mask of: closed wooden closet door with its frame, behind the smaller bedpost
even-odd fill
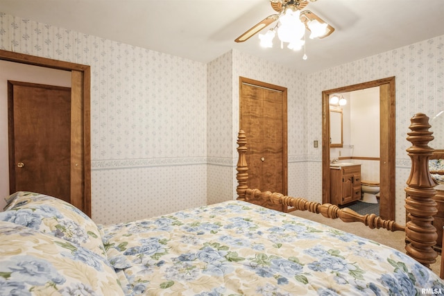
[[[239,85],[248,186],[287,194],[287,89],[247,78],[240,78]]]

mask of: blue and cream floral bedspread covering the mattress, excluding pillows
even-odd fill
[[[437,275],[391,247],[247,202],[101,231],[128,295],[444,293]]]

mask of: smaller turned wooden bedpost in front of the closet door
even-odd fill
[[[246,200],[246,189],[248,181],[248,166],[247,166],[247,139],[244,130],[239,130],[237,137],[237,153],[239,153],[239,159],[237,160],[237,200]]]

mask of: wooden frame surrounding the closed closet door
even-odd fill
[[[241,98],[242,98],[242,85],[254,85],[255,87],[262,87],[266,89],[272,89],[277,92],[282,92],[282,194],[288,194],[288,112],[287,112],[287,87],[280,87],[278,85],[272,85],[270,83],[262,82],[259,80],[253,80],[239,76],[239,129],[242,129],[242,110],[241,110]],[[246,134],[248,143],[248,134]],[[247,164],[248,165],[248,164]]]

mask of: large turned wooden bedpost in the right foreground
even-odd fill
[[[407,140],[413,146],[407,149],[411,158],[411,172],[407,180],[406,205],[407,217],[405,234],[407,254],[429,267],[436,262],[438,254],[433,250],[436,245],[436,228],[432,225],[434,216],[437,213],[436,202],[433,200],[436,185],[429,173],[429,157],[434,149],[428,146],[429,141],[434,137],[429,131],[429,117],[418,113],[411,118],[409,126],[411,132],[407,134]],[[395,177],[395,176],[393,176]]]

